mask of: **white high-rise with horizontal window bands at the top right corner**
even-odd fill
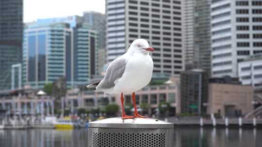
[[[262,52],[262,0],[212,0],[212,76],[238,76],[237,63]]]

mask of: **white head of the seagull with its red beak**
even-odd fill
[[[155,51],[155,49],[153,47],[150,47],[145,39],[134,40],[128,49],[128,52],[144,53],[144,54],[148,54],[149,52],[153,52],[153,51]]]

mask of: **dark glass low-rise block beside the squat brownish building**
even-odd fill
[[[180,74],[181,113],[205,114],[208,101],[208,73],[193,69]]]

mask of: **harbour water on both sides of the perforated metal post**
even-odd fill
[[[87,147],[87,130],[0,130],[0,147]],[[174,147],[262,147],[262,130],[175,128]]]

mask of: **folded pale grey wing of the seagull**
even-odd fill
[[[99,83],[100,89],[112,88],[115,86],[115,80],[122,77],[126,68],[126,59],[117,58],[112,61],[105,73],[105,77]]]

